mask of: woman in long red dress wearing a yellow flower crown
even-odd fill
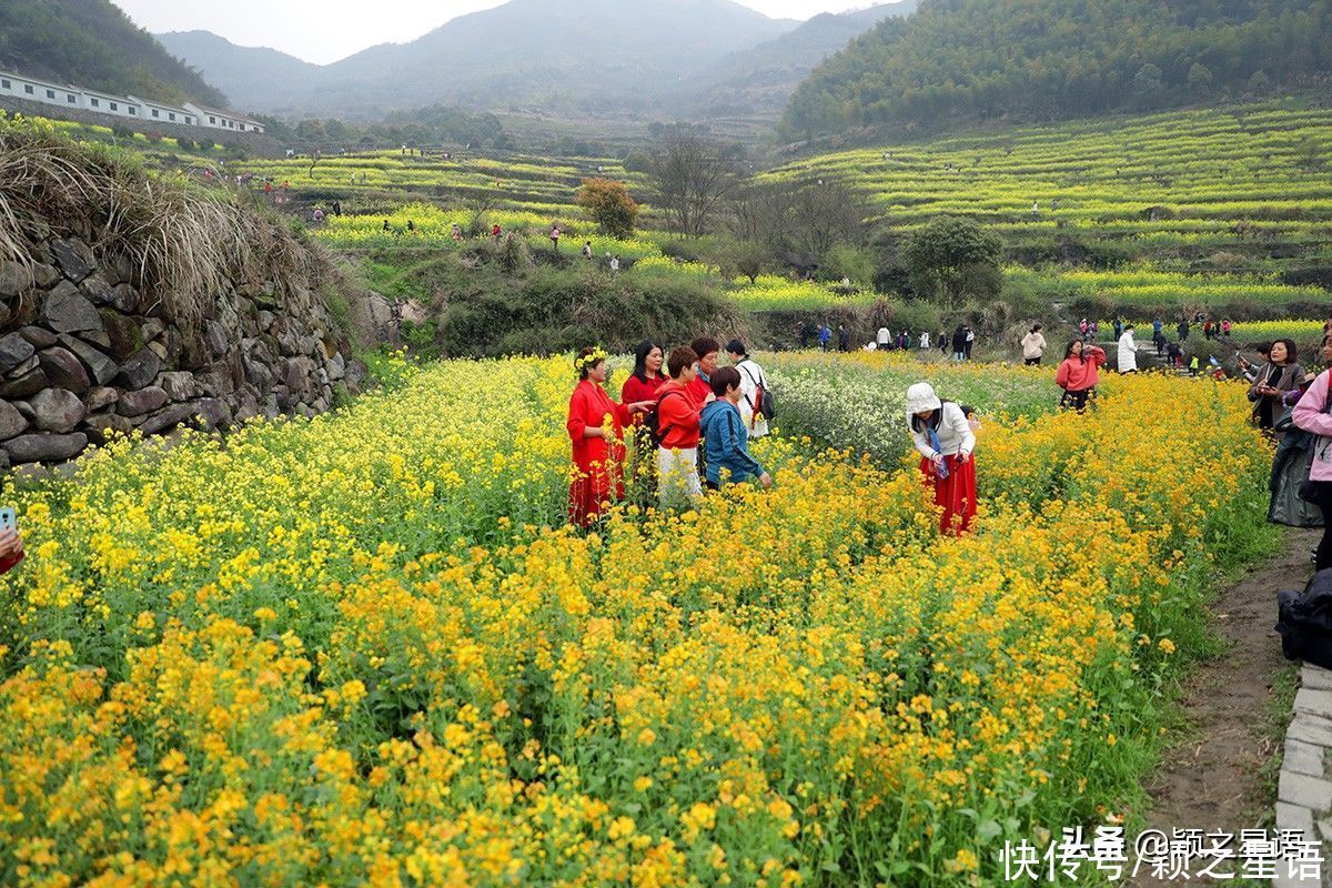
[[[587,527],[603,506],[625,497],[622,465],[625,426],[630,417],[651,409],[651,401],[615,403],[602,387],[609,370],[606,353],[583,349],[574,359],[578,386],[569,398],[569,439],[574,450],[574,478],[569,486],[569,521]]]

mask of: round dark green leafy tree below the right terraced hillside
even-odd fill
[[[984,269],[999,270],[999,238],[970,218],[943,217],[916,230],[902,248],[914,289],[942,297],[950,309],[962,304],[968,281],[984,280]],[[992,277],[988,280],[994,280]]]

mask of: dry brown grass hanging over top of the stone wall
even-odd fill
[[[140,290],[186,333],[230,285],[318,293],[336,274],[322,253],[221,186],[152,176],[132,152],[0,114],[0,261],[31,268],[48,229],[87,238],[100,260],[128,258]]]

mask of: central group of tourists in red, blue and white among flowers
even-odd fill
[[[773,486],[773,477],[749,450],[751,439],[769,433],[767,377],[742,341],[726,345],[727,366],[721,366],[721,351],[711,337],[669,354],[655,342],[643,342],[619,402],[603,387],[610,375],[606,353],[595,347],[578,353],[578,385],[566,425],[574,462],[571,523],[586,527],[607,505],[625,498],[630,446],[635,479],[655,487],[663,507],[697,502],[705,483],[709,490],[750,481]]]

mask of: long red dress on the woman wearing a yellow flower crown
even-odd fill
[[[610,417],[614,439],[585,438],[585,429],[601,429]],[[615,403],[595,382],[583,379],[569,398],[569,439],[574,446],[574,479],[569,486],[569,521],[586,527],[605,505],[623,499],[625,423],[629,407]]]

